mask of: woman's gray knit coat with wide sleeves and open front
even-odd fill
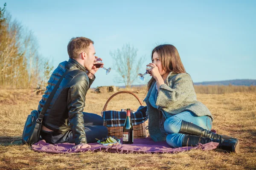
[[[144,101],[147,105],[148,132],[155,142],[165,141],[168,133],[164,130],[165,117],[162,112],[171,115],[183,111],[192,111],[197,116],[210,116],[209,109],[196,99],[195,89],[189,74],[175,74],[170,72],[166,78],[166,84],[160,86],[157,98],[154,100],[151,91],[154,90],[155,83],[151,85]],[[156,105],[157,108],[152,105]]]

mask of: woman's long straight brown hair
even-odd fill
[[[180,54],[175,46],[170,44],[158,45],[155,47],[151,54],[151,59],[153,58],[154,52],[157,52],[160,61],[162,62],[163,70],[167,73],[171,71],[174,73],[186,73],[186,70],[181,62]],[[148,82],[148,90],[150,89],[152,83],[155,82],[154,77],[152,77]]]

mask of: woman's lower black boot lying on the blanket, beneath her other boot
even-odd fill
[[[209,142],[219,143],[218,148],[239,153],[239,142],[234,139],[211,139],[202,136],[185,135],[182,141],[182,146],[197,146],[198,143],[206,144]]]

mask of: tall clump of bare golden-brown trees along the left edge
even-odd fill
[[[0,86],[35,87],[42,77],[49,76],[52,66],[39,57],[32,31],[12,20],[5,9],[6,3],[0,8]]]

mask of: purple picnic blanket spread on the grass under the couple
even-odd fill
[[[121,139],[122,141],[122,139]],[[134,139],[134,144],[118,144],[112,147],[103,146],[98,143],[89,143],[91,148],[72,149],[75,144],[49,144],[45,140],[41,140],[32,144],[32,150],[46,153],[78,153],[86,151],[105,151],[110,153],[175,153],[191,149],[212,150],[218,146],[216,142],[209,142],[207,144],[199,144],[196,147],[170,147],[165,141],[154,142],[150,137],[145,139]]]

